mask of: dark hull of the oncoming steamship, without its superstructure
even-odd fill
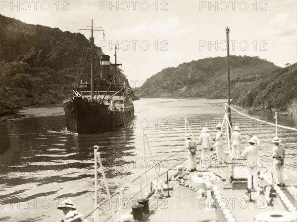
[[[134,117],[134,107],[130,111],[109,111],[108,107],[81,97],[64,102],[67,129],[80,134],[98,133],[122,126]]]

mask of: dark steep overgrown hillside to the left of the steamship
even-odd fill
[[[82,34],[0,14],[0,117],[14,115],[21,107],[61,104],[70,97],[88,44]],[[89,70],[87,66],[85,77]],[[119,75],[128,82],[124,74]]]

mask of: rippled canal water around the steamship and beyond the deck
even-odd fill
[[[214,136],[214,127],[224,115],[224,102],[141,99],[135,101],[135,118],[129,124],[96,135],[68,132],[61,107],[28,109],[22,111],[29,114],[26,118],[1,122],[0,221],[61,221],[63,213],[56,207],[63,198],[71,199],[80,213],[88,215],[94,207],[94,145],[99,146],[110,192],[114,194],[143,173],[144,165],[146,169],[153,166],[151,160],[148,164],[143,161],[144,130],[155,161],[160,161],[184,149],[185,116],[195,138],[204,126]],[[275,121],[272,113],[236,109],[268,122]],[[235,112],[232,121],[240,126],[244,138],[249,133],[260,138],[260,155],[271,162],[270,142],[275,127]],[[291,117],[279,116],[278,123],[297,128],[296,120]],[[296,132],[281,128],[278,131],[287,150],[287,167],[296,169]],[[245,145],[247,140],[243,148]],[[184,155],[179,153],[175,160],[182,160]],[[149,159],[150,155],[147,156]],[[164,161],[160,167],[170,168],[171,162]],[[134,188],[139,189],[139,182]],[[99,171],[99,203],[103,199],[106,190]],[[100,213],[104,218],[104,209]]]

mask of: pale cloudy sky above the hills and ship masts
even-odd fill
[[[29,24],[80,32],[91,25],[95,43],[117,63],[134,87],[167,67],[230,54],[259,56],[285,67],[297,60],[296,0],[101,1],[0,0],[0,13]],[[98,28],[99,29],[99,28]]]

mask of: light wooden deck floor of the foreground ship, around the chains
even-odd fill
[[[232,165],[238,164],[239,161],[222,165],[216,164],[207,170],[216,173],[222,178],[227,179],[229,182]],[[205,171],[204,169],[199,169],[200,166],[198,165],[198,172]],[[186,180],[189,185],[203,188],[203,185],[191,182],[191,177],[196,173],[197,172],[185,175],[184,180]],[[286,169],[286,174],[290,175],[291,180],[287,181],[287,188],[283,189],[283,191],[296,207],[296,172]],[[222,197],[227,200],[228,209],[231,211],[234,219],[238,222],[255,221],[255,216],[262,212],[288,211],[279,196],[273,198],[272,206],[266,207],[263,195],[256,196],[256,192],[252,192],[252,199],[255,199],[255,202],[248,202],[249,198],[245,193],[246,189],[223,189],[224,182],[221,180],[214,184],[219,187]],[[150,198],[150,210],[152,213],[146,221],[228,221],[218,204],[216,204],[216,208],[209,210],[205,199],[197,199],[198,194],[189,187],[179,185],[178,181],[171,181],[169,186],[173,187],[173,191],[169,192],[170,197],[164,199]]]

